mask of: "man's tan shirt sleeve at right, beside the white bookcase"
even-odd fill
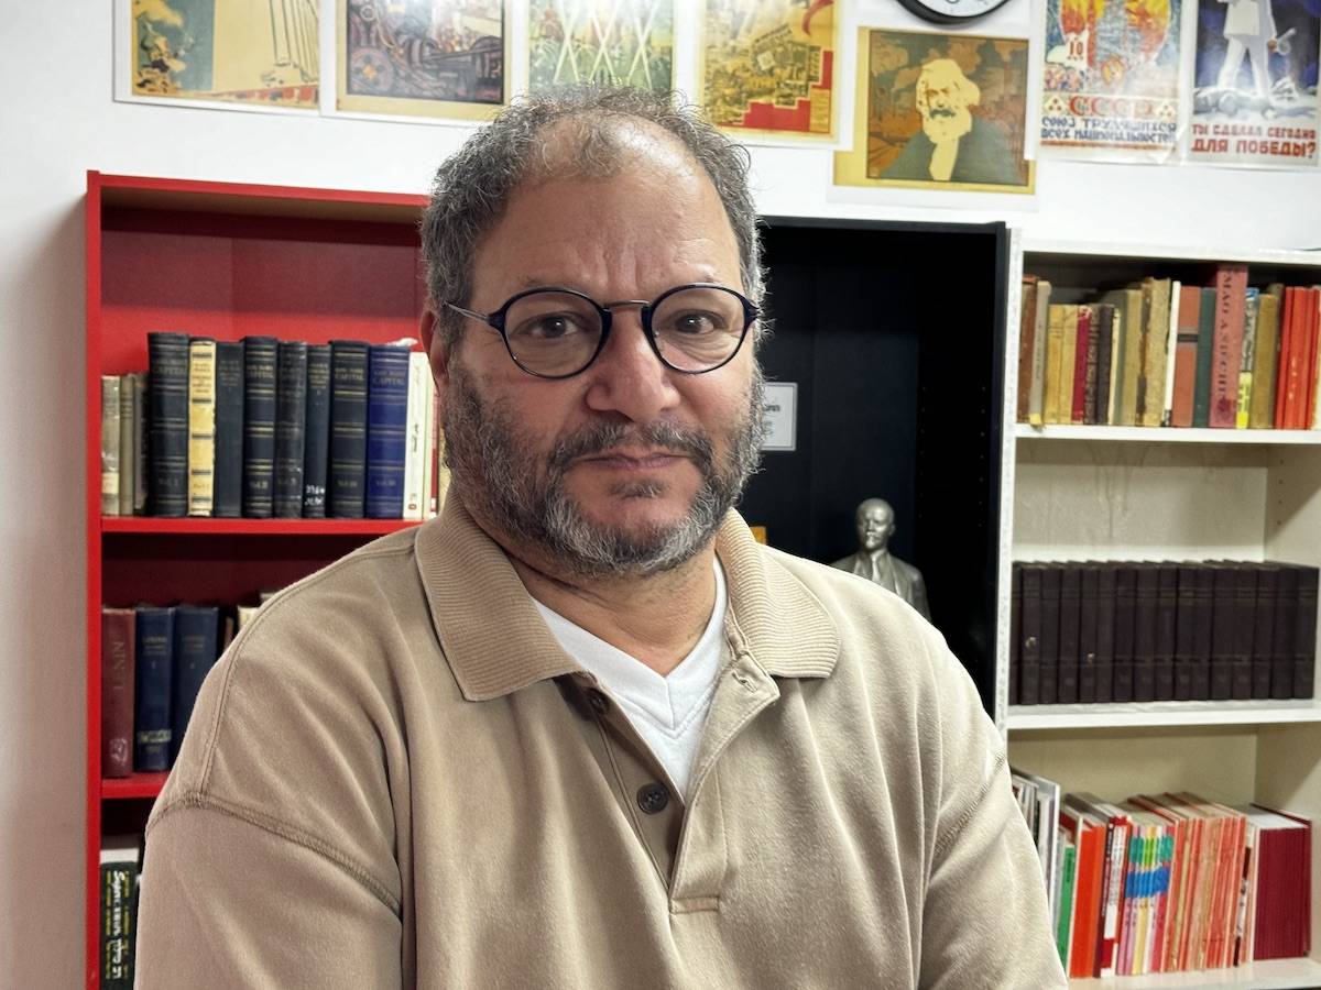
[[[1004,744],[967,673],[959,668],[954,680],[941,719],[942,797],[922,904],[921,986],[1067,987]]]

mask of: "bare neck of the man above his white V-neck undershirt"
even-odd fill
[[[715,607],[715,548],[663,574],[583,581],[513,553],[528,594],[662,677],[692,651]]]

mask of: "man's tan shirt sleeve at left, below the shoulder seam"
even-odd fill
[[[400,921],[351,869],[226,810],[153,826],[139,899],[139,990],[402,986]]]

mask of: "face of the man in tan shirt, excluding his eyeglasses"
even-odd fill
[[[704,173],[668,143],[613,178],[515,193],[480,243],[472,309],[543,285],[601,304],[686,282],[742,289],[738,249]],[[519,558],[576,577],[664,570],[705,546],[761,446],[752,342],[721,368],[660,364],[635,306],[621,308],[583,374],[534,378],[470,322],[439,376],[454,491]]]

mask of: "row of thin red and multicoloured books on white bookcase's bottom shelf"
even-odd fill
[[[1312,824],[1192,793],[1102,801],[1013,771],[1070,977],[1306,956]]]

